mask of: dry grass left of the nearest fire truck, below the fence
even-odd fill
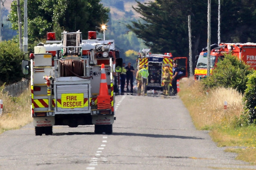
[[[0,134],[9,129],[18,129],[32,121],[30,95],[30,90],[26,90],[19,97],[11,97],[0,92],[0,99],[3,100]]]

